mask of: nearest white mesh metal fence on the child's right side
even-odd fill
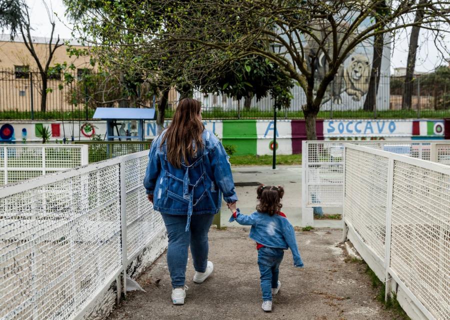
[[[411,318],[448,320],[450,166],[358,145],[344,150],[344,235]]]

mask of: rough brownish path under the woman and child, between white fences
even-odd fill
[[[236,227],[209,232],[209,259],[214,272],[202,284],[193,283],[189,259],[186,303],[173,305],[165,254],[144,272],[138,282],[146,292],[128,292],[109,320],[137,319],[292,319],[392,320],[391,311],[374,299],[376,292],[365,265],[346,262],[337,244],[341,230],[297,232],[305,268],[294,268],[290,251],[280,266],[281,289],[273,310],[261,309],[255,244],[248,230]]]

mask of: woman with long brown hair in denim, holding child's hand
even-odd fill
[[[203,282],[213,269],[208,257],[208,230],[220,209],[237,200],[228,156],[201,122],[200,102],[179,101],[169,127],[151,143],[144,186],[148,200],[161,212],[168,233],[167,265],[172,302],[183,304],[184,274],[190,244],[195,275]]]

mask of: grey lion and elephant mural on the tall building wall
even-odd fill
[[[366,18],[361,27],[371,25],[372,21]],[[324,78],[329,69],[326,56],[333,54],[333,35],[331,27],[326,22],[317,22],[314,37],[305,34],[303,46],[307,57],[306,64],[314,71],[314,93],[318,89],[319,83]],[[354,39],[350,34],[345,40],[342,37],[346,35],[349,28],[348,22],[340,22],[337,25],[337,42],[343,42],[346,47]],[[320,41],[320,46],[317,41]],[[380,74],[381,76],[389,75],[389,46],[384,47],[385,53],[382,56]],[[314,56],[316,52],[320,52],[318,58],[312,63],[310,56]],[[325,54],[326,53],[326,54]],[[386,54],[387,53],[387,54]],[[357,110],[362,109],[365,96],[369,90],[369,80],[371,72],[371,63],[373,59],[373,39],[369,38],[352,48],[345,56],[344,62],[339,66],[337,74],[326,88],[325,95],[322,100],[321,110]],[[297,91],[297,90],[295,90]],[[389,84],[388,81],[380,81],[377,90],[376,108],[388,109]],[[294,95],[296,99],[305,99],[304,92],[298,90]]]

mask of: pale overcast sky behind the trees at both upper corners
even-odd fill
[[[59,34],[60,38],[69,39],[71,37],[71,24],[64,17],[65,7],[62,0],[26,0],[31,17],[31,25],[34,28],[33,35],[35,36],[49,36],[51,31],[51,26],[48,21],[45,6],[42,1],[47,3],[50,11],[54,12],[57,17],[55,34]],[[391,71],[395,67],[406,66],[406,59],[408,54],[408,40],[409,40],[409,30],[400,32],[391,44],[393,49],[391,50]],[[445,38],[447,47],[450,48],[450,35]],[[450,58],[447,56],[446,58]],[[442,55],[436,48],[432,36],[427,34],[425,30],[422,30],[419,36],[419,51],[417,54],[417,60],[415,64],[415,70],[426,72],[433,70],[436,66],[446,64],[442,61]]]

